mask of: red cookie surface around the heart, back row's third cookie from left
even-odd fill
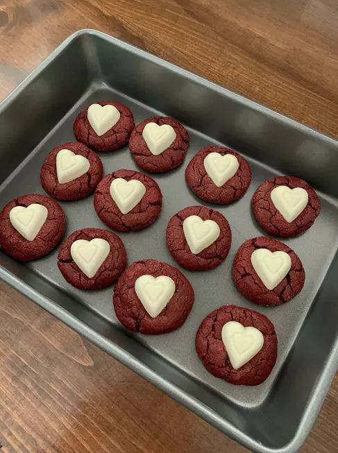
[[[239,163],[235,175],[217,187],[205,170],[204,160],[210,153],[232,154]],[[225,146],[205,146],[192,158],[185,170],[185,180],[196,196],[208,203],[228,205],[244,196],[251,183],[251,169],[244,157]]]

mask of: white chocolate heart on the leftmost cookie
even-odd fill
[[[27,241],[34,241],[48,217],[47,207],[32,203],[10,210],[10,223]]]

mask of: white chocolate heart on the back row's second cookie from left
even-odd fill
[[[158,126],[156,123],[147,123],[144,126],[142,136],[153,155],[159,155],[176,139],[176,132],[169,124]]]

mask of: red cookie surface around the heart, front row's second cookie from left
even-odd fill
[[[108,257],[101,264],[94,277],[89,278],[71,257],[70,248],[74,241],[85,239],[105,239],[110,245]],[[83,228],[74,231],[60,246],[58,254],[58,268],[65,280],[78,289],[103,289],[109,287],[117,280],[126,267],[126,250],[121,239],[112,231],[100,228]]]

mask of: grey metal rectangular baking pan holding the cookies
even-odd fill
[[[213,271],[185,271],[196,294],[192,313],[183,327],[162,336],[124,330],[112,307],[112,288],[93,293],[70,287],[56,266],[57,250],[29,264],[1,253],[1,278],[254,452],[296,452],[337,369],[337,142],[140,49],[84,30],[71,35],[1,104],[1,206],[22,194],[43,193],[39,171],[44,157],[53,146],[74,139],[72,124],[83,106],[103,99],[126,103],[136,123],[154,114],[174,117],[192,138],[185,164],[155,176],[164,195],[160,219],[142,232],[120,234],[128,262],[155,257],[175,265],[165,246],[165,228],[175,212],[200,203],[185,185],[185,166],[208,144],[235,148],[253,170],[244,198],[216,207],[233,231],[230,255]],[[127,147],[100,157],[105,174],[136,168]],[[251,214],[253,191],[280,173],[310,182],[322,210],[309,231],[285,241],[305,266],[303,291],[280,307],[260,307],[235,290],[231,266],[241,243],[262,235]],[[92,196],[61,204],[66,234],[103,228]],[[278,361],[260,386],[231,386],[210,375],[196,356],[199,323],[227,303],[256,309],[276,326]]]

